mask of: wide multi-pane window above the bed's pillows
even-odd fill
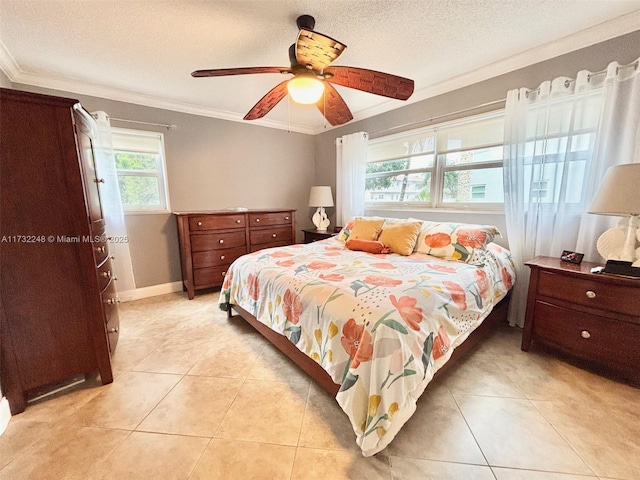
[[[367,206],[501,208],[504,113],[369,142]]]

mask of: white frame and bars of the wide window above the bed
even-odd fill
[[[504,201],[503,202],[445,202],[443,200],[443,192],[444,192],[444,175],[446,172],[450,171],[470,171],[470,170],[488,170],[492,168],[503,168],[504,166],[504,157],[500,160],[496,161],[484,161],[477,163],[469,163],[469,164],[458,164],[458,165],[446,165],[446,155],[448,153],[458,153],[465,151],[475,151],[484,148],[495,148],[500,147],[504,149],[504,138],[502,142],[488,142],[474,147],[465,147],[465,148],[457,148],[457,149],[448,149],[444,151],[438,150],[438,131],[443,130],[445,128],[455,127],[458,125],[476,123],[483,120],[492,120],[498,117],[501,117],[504,121],[505,110],[504,108],[499,110],[493,110],[491,112],[485,112],[478,115],[471,115],[463,118],[458,118],[455,120],[451,120],[448,122],[442,122],[436,125],[430,125],[429,127],[422,127],[413,130],[407,130],[401,133],[396,133],[392,135],[385,135],[381,137],[377,137],[375,139],[371,139],[369,141],[370,145],[376,145],[377,143],[389,142],[394,139],[401,139],[407,136],[414,136],[417,134],[424,134],[427,136],[429,133],[433,133],[434,137],[434,146],[431,152],[420,152],[416,153],[412,156],[421,156],[421,155],[433,155],[433,167],[428,168],[414,168],[407,170],[400,170],[396,172],[377,172],[374,174],[369,174],[366,178],[375,178],[375,177],[387,177],[392,175],[402,175],[402,174],[411,174],[411,173],[423,173],[428,172],[431,174],[430,179],[430,201],[429,202],[416,202],[416,201],[392,201],[392,202],[371,202],[365,199],[365,209],[367,210],[385,210],[385,209],[393,209],[393,210],[463,210],[463,211],[487,211],[487,212],[504,212]],[[375,162],[368,163],[383,163],[393,160],[400,160],[403,158],[407,158],[406,156],[396,157],[396,158],[388,158],[384,160],[378,160]],[[504,183],[502,183],[504,188]]]

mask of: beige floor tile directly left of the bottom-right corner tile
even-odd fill
[[[455,399],[489,465],[593,474],[529,400]]]

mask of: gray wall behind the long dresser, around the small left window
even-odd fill
[[[28,85],[14,87],[77,98],[87,110],[103,110],[114,118],[176,125],[167,130],[112,122],[115,127],[164,133],[172,211],[293,208],[300,240],[300,229],[310,224],[307,202],[314,176],[310,135]],[[181,280],[175,217],[126,215],[126,224],[136,287]]]

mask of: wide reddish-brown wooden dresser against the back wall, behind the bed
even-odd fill
[[[220,287],[227,268],[239,256],[295,243],[295,210],[173,213],[189,299],[196,290]]]

